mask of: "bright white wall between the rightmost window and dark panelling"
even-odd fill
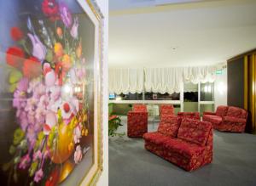
[[[218,105],[227,105],[227,78],[227,68],[224,68],[222,75],[216,75],[214,82],[215,110]]]

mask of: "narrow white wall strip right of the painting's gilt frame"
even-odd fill
[[[97,186],[108,186],[108,0],[96,0],[104,15],[103,38],[103,172]]]

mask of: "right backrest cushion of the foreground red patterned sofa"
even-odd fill
[[[212,124],[184,118],[177,132],[177,138],[205,146]]]

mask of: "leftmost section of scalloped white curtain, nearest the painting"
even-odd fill
[[[110,93],[143,93],[143,69],[110,69]]]

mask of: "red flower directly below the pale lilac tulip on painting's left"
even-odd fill
[[[23,75],[28,78],[40,76],[42,73],[41,63],[35,57],[30,57],[24,61]]]

